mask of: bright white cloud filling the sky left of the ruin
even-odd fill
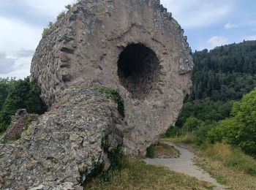
[[[13,1],[1,1],[0,7],[8,6],[9,9],[12,9]],[[22,18],[20,15],[15,15],[15,9],[13,9],[11,17],[10,14],[0,14],[0,77],[23,78],[30,75],[31,58],[42,38],[42,28],[44,27],[29,24],[31,23],[30,20],[37,18],[37,16],[44,18],[44,15],[54,20],[59,12],[65,9],[64,5],[72,4],[75,1],[19,0],[18,3],[23,6],[20,7],[21,9],[31,10],[31,14],[35,15]],[[47,25],[48,23],[45,23],[45,26]]]

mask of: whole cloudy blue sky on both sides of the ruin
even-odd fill
[[[0,0],[0,77],[29,76],[42,29],[76,0]],[[125,1],[125,0],[124,0]],[[192,50],[256,39],[256,1],[160,0]]]

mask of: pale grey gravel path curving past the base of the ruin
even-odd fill
[[[219,183],[217,183],[217,180],[214,178],[211,178],[211,175],[208,174],[208,172],[200,169],[200,167],[197,167],[194,163],[195,154],[189,151],[187,148],[185,148],[182,145],[174,145],[171,142],[164,142],[167,145],[173,145],[174,148],[176,148],[178,151],[180,151],[181,156],[178,159],[144,159],[146,163],[153,164],[153,165],[159,165],[170,168],[170,170],[176,171],[176,172],[182,172],[186,175],[190,175],[192,177],[197,178],[198,180],[204,180],[209,183],[214,184],[216,186],[214,189],[221,190],[221,189],[227,189],[227,186],[223,186]]]

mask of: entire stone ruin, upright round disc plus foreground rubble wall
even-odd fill
[[[81,0],[49,31],[31,63],[49,110],[0,144],[0,189],[82,189],[118,145],[145,155],[192,85],[187,37],[159,0]],[[124,118],[95,86],[119,92]]]

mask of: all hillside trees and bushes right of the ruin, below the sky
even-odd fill
[[[193,54],[192,94],[166,137],[227,142],[256,155],[256,41]],[[244,98],[243,98],[244,97]]]

